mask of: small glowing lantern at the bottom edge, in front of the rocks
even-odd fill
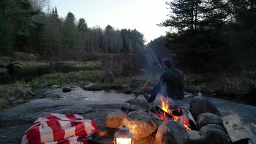
[[[125,125],[119,127],[117,133],[115,133],[114,143],[115,144],[132,144],[133,135],[129,131],[129,127]]]

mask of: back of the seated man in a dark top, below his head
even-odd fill
[[[165,70],[160,77],[160,83],[166,83],[169,98],[174,100],[184,99],[184,74],[181,70],[170,68]]]

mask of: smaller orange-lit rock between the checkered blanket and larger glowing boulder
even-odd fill
[[[107,128],[119,128],[124,117],[124,112],[121,111],[115,111],[112,113],[109,113],[105,120],[104,124]]]

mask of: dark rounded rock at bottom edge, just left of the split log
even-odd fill
[[[217,124],[208,124],[200,129],[200,133],[205,136],[206,144],[230,144],[229,135],[226,129]]]

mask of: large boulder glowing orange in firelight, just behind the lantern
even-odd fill
[[[142,110],[128,113],[123,123],[130,128],[130,132],[139,140],[153,134],[158,128],[155,119]]]

